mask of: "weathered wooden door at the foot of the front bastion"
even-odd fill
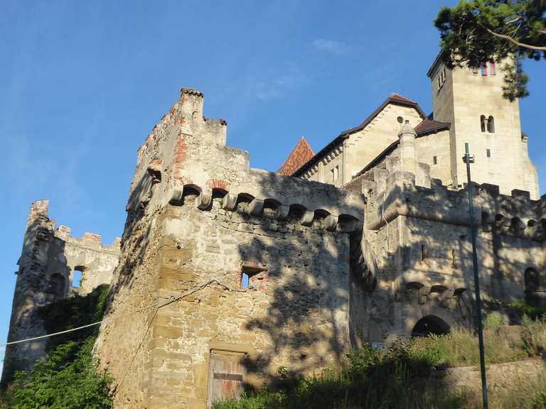
[[[245,382],[245,354],[229,351],[210,351],[207,407],[227,398],[239,398]]]

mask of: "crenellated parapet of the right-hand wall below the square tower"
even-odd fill
[[[431,187],[415,184],[412,173],[385,169],[375,170],[363,180],[368,202],[365,226],[379,230],[398,216],[414,217],[469,227],[469,187],[451,190],[432,179]],[[535,241],[545,240],[545,197],[531,200],[529,192],[513,190],[501,195],[496,185],[473,184],[475,222],[483,231],[496,228],[500,234]]]

